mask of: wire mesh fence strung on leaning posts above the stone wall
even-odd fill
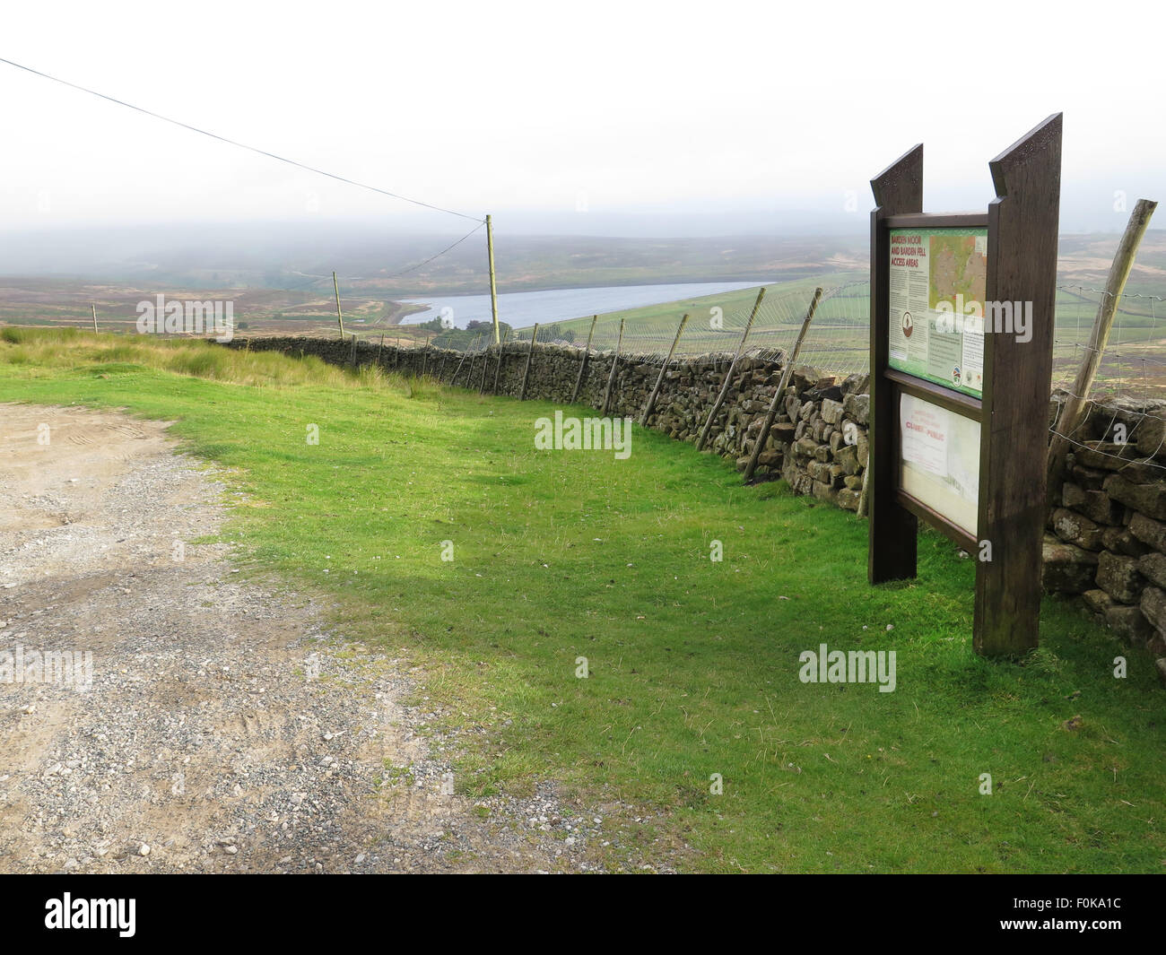
[[[538,342],[582,349],[590,333],[592,352],[617,347],[628,359],[662,364],[701,354],[733,354],[742,345],[751,357],[773,358],[788,353],[810,307],[813,282],[768,287],[760,304],[756,289],[737,293],[731,307],[677,302],[642,314],[598,316],[593,331],[586,319],[540,325]],[[870,281],[822,285],[822,296],[798,363],[844,378],[869,371]],[[1166,292],[1166,289],[1164,289]],[[1083,285],[1058,285],[1053,344],[1053,388],[1063,409],[1077,372],[1090,349],[1098,308],[1109,293]],[[680,338],[676,331],[688,315]],[[1065,437],[1082,461],[1108,471],[1140,469],[1166,476],[1166,294],[1128,292],[1115,313],[1109,340],[1100,357],[1089,393],[1077,395],[1082,412],[1072,430],[1060,420],[1049,424],[1052,435]],[[747,336],[745,330],[749,329]],[[533,326],[507,326],[504,349],[529,347]],[[443,338],[445,340],[443,340]],[[492,333],[479,331],[437,335],[435,346],[454,346],[477,353],[491,347]],[[1145,469],[1153,469],[1146,471]]]

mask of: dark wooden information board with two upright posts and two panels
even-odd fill
[[[1037,646],[1061,114],[989,163],[986,212],[922,211],[923,147],[871,181],[872,584],[915,576],[918,521],[976,560],[974,644]]]

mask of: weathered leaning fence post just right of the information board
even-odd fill
[[[1150,219],[1157,208],[1158,203],[1156,202],[1138,199],[1130,215],[1130,220],[1125,224],[1125,233],[1122,236],[1122,241],[1118,243],[1117,252],[1114,254],[1114,264],[1109,268],[1109,278],[1105,281],[1105,293],[1097,304],[1097,317],[1094,319],[1089,345],[1073,382],[1073,391],[1061,408],[1060,419],[1053,429],[1053,441],[1048,448],[1047,498],[1051,506],[1059,503],[1054,498],[1061,491],[1065,456],[1069,451],[1069,440],[1081,423],[1086,406],[1089,403],[1094,375],[1097,374],[1097,366],[1101,365],[1101,357],[1109,342],[1109,331],[1114,326],[1114,317],[1117,315],[1122,293],[1125,292],[1125,282],[1130,278],[1130,269],[1133,268],[1133,260],[1138,254],[1142,237],[1146,234]]]

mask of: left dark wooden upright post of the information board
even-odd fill
[[[915,576],[916,534],[914,514],[895,498],[899,462],[895,459],[899,407],[893,384],[885,377],[890,360],[891,306],[888,281],[891,243],[883,219],[923,211],[923,146],[915,146],[871,180],[871,384],[868,438],[870,457],[866,578],[872,584]],[[881,449],[886,447],[886,452]],[[878,451],[878,454],[876,454]]]

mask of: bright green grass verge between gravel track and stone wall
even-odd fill
[[[864,522],[690,445],[635,429],[626,461],[540,452],[548,403],[211,345],[6,331],[0,400],[175,420],[237,469],[260,505],[231,518],[245,571],[330,598],[346,632],[403,648],[450,722],[485,728],[463,737],[462,792],[555,779],[631,801],[662,813],[641,848],[687,844],[689,870],[1166,861],[1152,661],[1052,599],[1026,665],[977,658],[974,567],[941,538],[916,582],[871,588]],[[894,649],[897,690],[801,683],[820,642]]]

